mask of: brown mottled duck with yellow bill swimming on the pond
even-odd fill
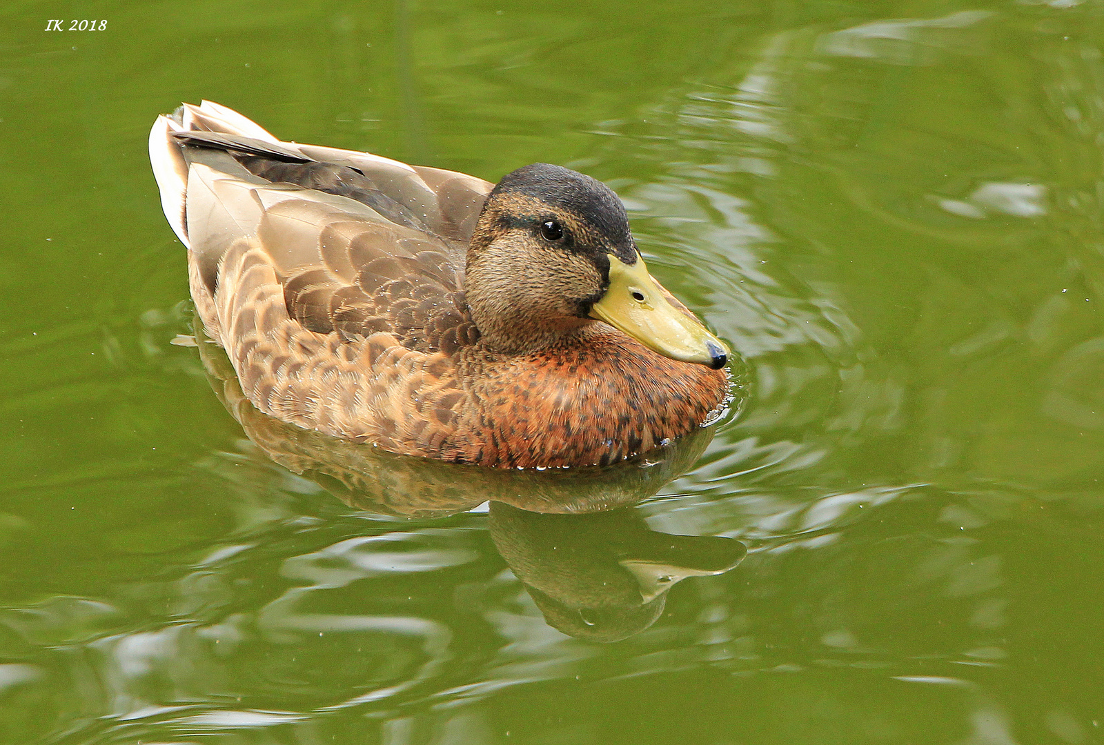
[[[548,469],[647,453],[725,407],[726,345],[588,175],[534,163],[492,184],[282,141],[208,100],[158,116],[149,153],[204,333],[268,416]]]

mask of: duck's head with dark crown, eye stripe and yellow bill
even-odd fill
[[[617,195],[560,166],[519,168],[490,192],[465,291],[499,351],[546,349],[604,321],[673,360],[714,370],[728,361],[724,343],[648,274]]]

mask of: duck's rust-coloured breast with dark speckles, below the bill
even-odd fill
[[[471,434],[484,448],[473,462],[606,465],[697,430],[724,401],[723,371],[669,360],[601,328],[577,344],[479,365]]]

